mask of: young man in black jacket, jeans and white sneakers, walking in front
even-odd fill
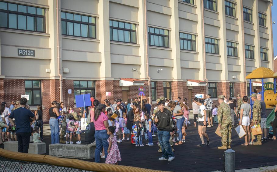
[[[173,135],[174,124],[171,117],[171,112],[164,108],[164,104],[158,103],[159,111],[155,113],[155,125],[158,128],[157,134],[162,148],[162,157],[159,160],[171,161],[174,159],[174,153],[171,150],[169,138]]]

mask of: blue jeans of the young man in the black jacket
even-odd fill
[[[171,150],[171,146],[169,143],[169,138],[170,138],[170,132],[169,131],[157,131],[158,138],[159,138],[159,143],[162,148],[162,157],[164,158],[169,158],[169,157],[174,157],[174,153]]]

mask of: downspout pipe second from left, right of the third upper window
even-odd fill
[[[148,102],[151,104],[151,78],[149,76],[149,63],[148,63],[148,37],[147,37],[147,8],[146,8],[146,0],[144,0],[144,27],[145,27],[145,52],[146,52],[146,75],[148,78]]]

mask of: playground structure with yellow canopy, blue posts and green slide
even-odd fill
[[[272,82],[264,82],[264,79],[267,78],[273,78]],[[276,98],[276,78],[277,78],[277,72],[274,73],[269,68],[260,67],[252,71],[250,74],[246,76],[246,79],[249,79],[249,85],[250,85],[250,95],[254,92],[252,92],[252,79],[261,79],[261,92],[259,94],[262,95],[262,100],[265,101],[266,108],[274,108],[277,104]],[[248,95],[248,96],[250,96]],[[251,106],[254,104],[252,100],[250,99]],[[271,113],[267,117],[266,126],[270,127],[270,121],[273,121],[275,117],[274,109],[271,111]]]

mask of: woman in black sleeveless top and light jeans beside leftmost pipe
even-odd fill
[[[51,144],[59,143],[59,122],[57,117],[60,116],[59,110],[61,106],[57,101],[52,101],[52,107],[49,108],[49,125],[51,130]],[[17,122],[17,121],[16,121]]]

